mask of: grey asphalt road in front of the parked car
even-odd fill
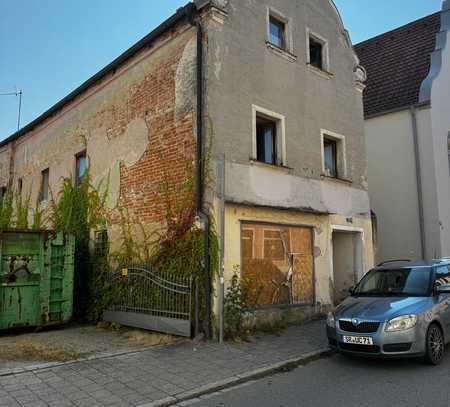
[[[448,407],[450,349],[431,367],[418,360],[341,355],[191,401],[192,407]]]

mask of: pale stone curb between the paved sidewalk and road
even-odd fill
[[[169,407],[177,403],[192,400],[206,394],[215,393],[220,390],[227,389],[229,387],[238,386],[240,384],[261,379],[273,375],[275,373],[288,371],[296,367],[306,365],[320,358],[326,357],[332,354],[333,351],[330,348],[322,348],[313,352],[304,353],[296,358],[283,360],[281,362],[273,363],[271,365],[251,370],[236,376],[231,376],[227,379],[213,382],[204,386],[197,387],[196,389],[178,393],[174,396],[167,397],[161,400],[156,400],[151,403],[141,404],[138,407]]]

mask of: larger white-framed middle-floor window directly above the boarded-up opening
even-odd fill
[[[253,157],[270,165],[286,165],[285,117],[253,105]]]

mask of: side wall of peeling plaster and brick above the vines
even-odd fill
[[[176,202],[195,162],[195,75],[189,71],[195,38],[195,28],[180,24],[16,142],[14,185],[23,178],[32,205],[41,171],[50,168],[50,187],[58,191],[61,179],[73,176],[75,155],[87,147],[94,179],[120,162],[113,225],[120,208],[143,224],[163,223],[163,182]]]

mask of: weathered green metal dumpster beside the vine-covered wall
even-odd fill
[[[74,251],[63,234],[0,231],[0,329],[70,320]]]

